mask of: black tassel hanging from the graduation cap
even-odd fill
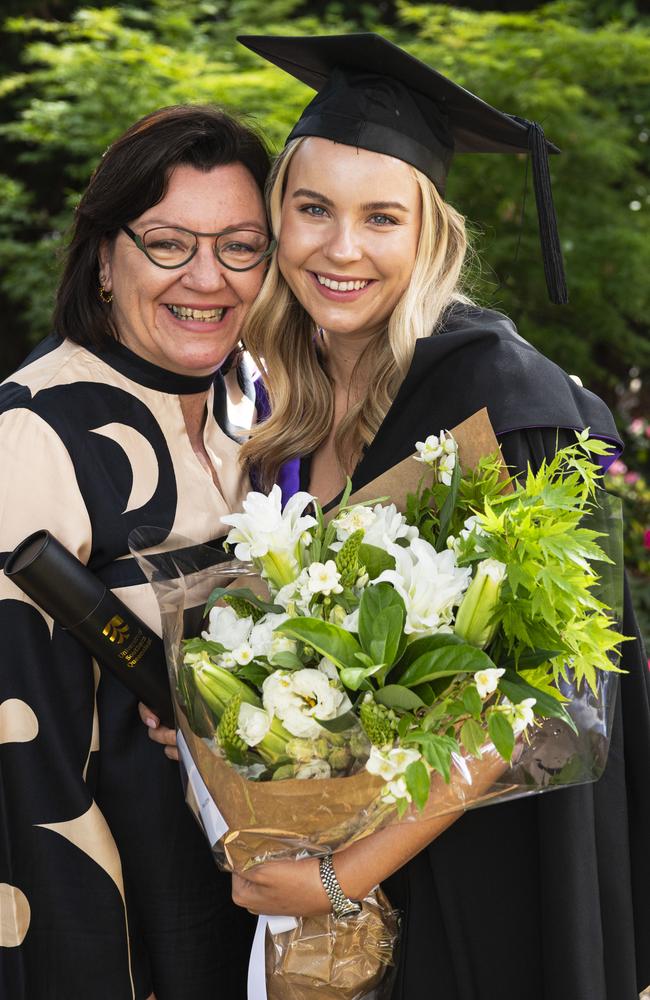
[[[514,116],[513,116],[514,117]],[[542,259],[546,287],[551,302],[566,305],[569,295],[564,274],[564,262],[560,247],[560,236],[557,228],[557,216],[553,204],[551,189],[551,173],[548,167],[548,149],[544,138],[544,129],[537,122],[518,118],[522,125],[528,127],[528,148],[533,163],[533,184],[535,201],[537,203],[537,218],[539,220],[539,236],[542,244]]]

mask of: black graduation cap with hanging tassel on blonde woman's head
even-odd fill
[[[559,149],[540,125],[498,111],[372,32],[238,41],[318,91],[287,142],[320,136],[395,156],[443,195],[454,153],[530,152],[549,296],[568,301],[548,168]]]

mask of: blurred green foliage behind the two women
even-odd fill
[[[540,121],[563,150],[551,169],[568,307],[547,300],[525,157],[459,157],[447,196],[470,220],[481,260],[474,296],[617,413],[629,448],[611,484],[625,497],[650,633],[649,0],[4,0],[3,9],[0,377],[50,332],[74,206],[129,123],[165,104],[218,102],[281,147],[312,92],[239,46],[238,32],[379,31],[489,103]]]

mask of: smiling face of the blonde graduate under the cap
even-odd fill
[[[406,163],[309,138],[287,172],[278,265],[317,326],[367,338],[408,286],[420,222],[420,189]]]

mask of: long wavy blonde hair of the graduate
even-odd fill
[[[289,143],[278,157],[267,185],[273,233],[280,215],[287,171],[304,138]],[[362,449],[373,440],[413,357],[415,342],[435,331],[452,302],[469,302],[460,288],[467,251],[465,220],[438,194],[433,183],[411,167],[422,198],[420,237],[409,285],[385,330],[373,338],[357,363],[370,372],[359,402],[336,431],[342,470],[351,474]],[[259,424],[241,451],[246,468],[255,466],[269,488],[284,462],[315,451],[327,438],[334,416],[334,392],[319,358],[316,328],[273,259],[262,290],[242,332],[269,394],[271,416]],[[298,378],[296,378],[298,374]],[[354,377],[354,373],[353,373]]]

